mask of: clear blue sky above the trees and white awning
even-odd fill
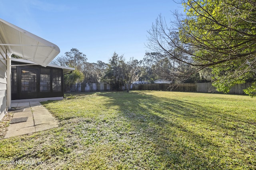
[[[0,0],[0,7],[0,18],[58,45],[58,56],[76,48],[91,63],[108,63],[114,52],[142,59],[158,15],[168,21],[183,10],[173,0]]]

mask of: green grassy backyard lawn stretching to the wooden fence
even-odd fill
[[[133,91],[42,104],[59,127],[0,140],[0,169],[256,169],[256,98]]]

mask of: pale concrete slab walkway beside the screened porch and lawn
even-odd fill
[[[12,102],[11,107],[16,109],[12,119],[18,117],[28,117],[28,119],[26,122],[10,124],[4,138],[58,127],[58,121],[39,101]]]

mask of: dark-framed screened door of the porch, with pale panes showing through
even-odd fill
[[[38,70],[21,68],[20,78],[20,97],[37,98],[38,96]]]

